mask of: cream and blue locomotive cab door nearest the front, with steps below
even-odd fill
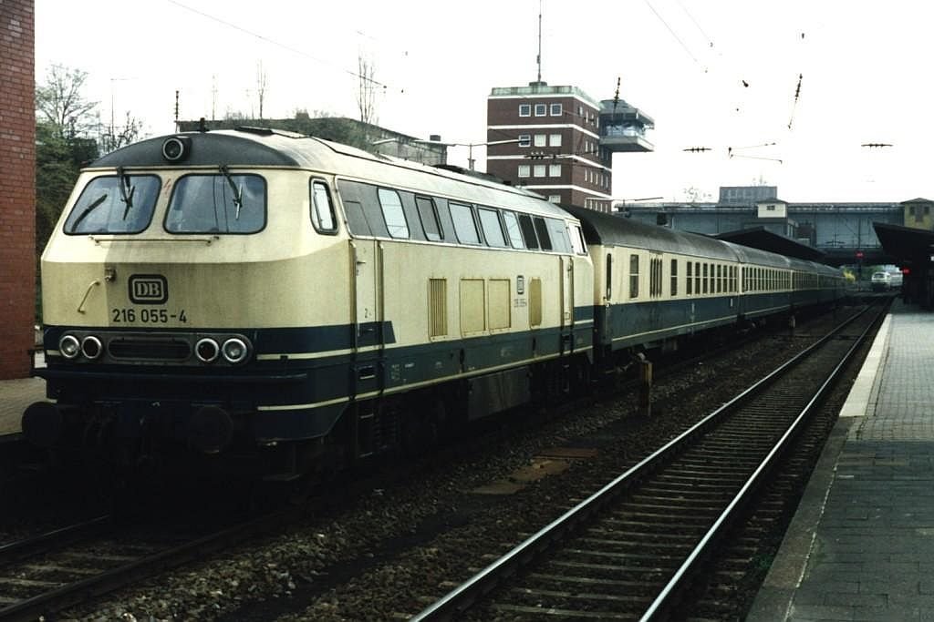
[[[350,242],[355,266],[352,309],[354,375],[351,394],[374,394],[382,390],[383,349],[383,246],[375,240]]]

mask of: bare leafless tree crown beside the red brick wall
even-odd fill
[[[47,121],[61,138],[75,138],[91,133],[99,123],[94,109],[81,91],[88,73],[62,65],[52,65],[46,81],[35,89],[35,111],[40,121]]]

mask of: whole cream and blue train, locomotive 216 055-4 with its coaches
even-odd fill
[[[49,401],[22,427],[118,463],[295,477],[840,283],[312,137],[182,133],[82,171],[42,256]]]

